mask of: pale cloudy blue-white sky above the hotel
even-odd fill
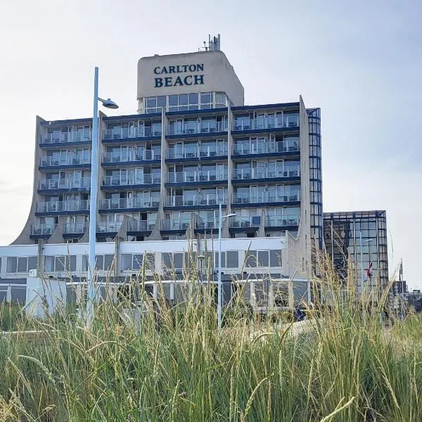
[[[35,116],[136,113],[136,65],[208,34],[245,103],[321,108],[324,211],[387,210],[389,266],[422,288],[422,3],[418,0],[0,0],[0,244],[32,200]]]

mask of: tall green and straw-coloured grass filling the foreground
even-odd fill
[[[422,321],[386,333],[381,305],[342,293],[327,268],[315,288],[331,306],[308,309],[306,331],[257,325],[236,302],[219,332],[198,281],[170,307],[142,271],[142,306],[105,300],[89,329],[69,312],[32,321],[37,338],[0,339],[0,421],[422,421],[420,337],[399,338]],[[123,308],[143,317],[129,324]]]

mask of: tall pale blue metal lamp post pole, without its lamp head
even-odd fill
[[[92,117],[91,141],[91,195],[89,198],[89,250],[88,250],[88,301],[87,321],[91,322],[95,301],[95,243],[96,203],[98,184],[98,68],[94,69],[94,114]]]

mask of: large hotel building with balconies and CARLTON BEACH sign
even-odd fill
[[[290,304],[309,300],[311,246],[323,226],[319,109],[300,96],[245,106],[219,40],[207,51],[141,58],[137,98],[137,113],[99,117],[98,280],[124,283],[144,257],[151,280],[184,279],[192,266],[204,274],[205,265],[216,279],[222,204],[236,214],[222,226],[225,301],[232,279],[248,280],[257,302],[256,283],[283,290],[293,279]],[[34,270],[86,280],[91,124],[37,117],[32,205],[20,235],[0,247],[0,300],[25,302]],[[265,283],[274,304],[276,288]]]

